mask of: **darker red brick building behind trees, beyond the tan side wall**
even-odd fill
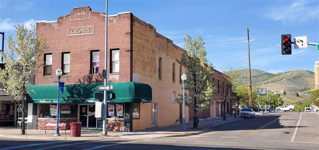
[[[223,101],[222,101],[222,86],[223,84],[227,81],[223,77],[223,73],[213,69],[214,74],[212,76],[214,85],[215,85],[215,92],[213,95],[213,105],[206,108],[203,111],[197,112],[197,117],[198,119],[207,119],[207,118],[216,118],[216,117],[222,117],[223,113]],[[225,105],[225,112],[226,115],[231,115],[232,114],[232,104],[231,104],[231,94],[229,93],[229,96],[226,100],[226,105]],[[192,119],[194,116],[194,111],[192,109],[189,109],[189,119]]]

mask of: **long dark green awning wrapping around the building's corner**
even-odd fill
[[[103,83],[66,84],[63,94],[60,92],[60,103],[94,103],[103,101],[103,91],[99,91]],[[137,82],[115,82],[112,92],[115,99],[111,103],[152,102],[152,88],[148,84]],[[57,85],[30,85],[27,94],[28,103],[56,103]],[[102,95],[102,97],[97,96]]]

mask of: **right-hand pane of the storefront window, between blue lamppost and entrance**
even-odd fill
[[[77,104],[61,104],[60,105],[61,118],[77,118],[78,105]]]

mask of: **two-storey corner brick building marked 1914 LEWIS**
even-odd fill
[[[60,122],[82,122],[82,128],[99,129],[95,102],[104,69],[105,13],[75,7],[56,21],[37,21],[37,37],[47,42],[38,63],[44,64],[29,88],[28,128],[55,123],[57,85],[55,70],[63,71]],[[185,51],[156,32],[131,12],[108,16],[108,82],[116,93],[108,103],[108,129],[134,131],[178,124],[183,68],[176,62]],[[186,112],[188,109],[186,108]],[[186,114],[188,120],[188,114]]]

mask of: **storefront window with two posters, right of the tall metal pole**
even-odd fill
[[[124,118],[124,103],[108,104],[107,118]]]

